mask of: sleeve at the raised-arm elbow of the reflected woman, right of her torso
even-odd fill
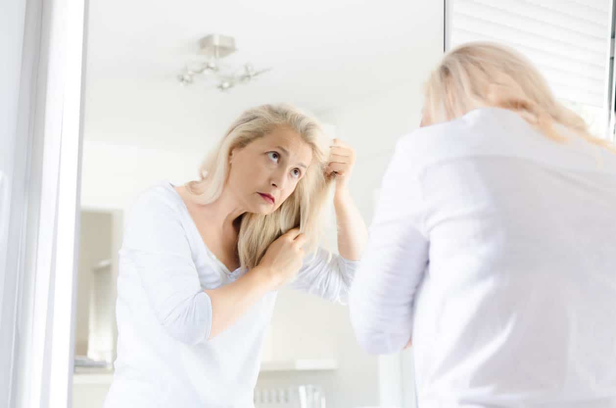
[[[317,248],[304,259],[290,287],[326,300],[346,304],[349,287],[358,264],[359,261],[350,261],[330,253],[325,248]]]

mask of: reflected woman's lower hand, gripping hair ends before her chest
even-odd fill
[[[299,272],[304,260],[304,243],[306,235],[294,228],[272,242],[265,251],[257,267],[268,274],[274,289],[289,282]]]

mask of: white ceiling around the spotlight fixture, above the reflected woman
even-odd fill
[[[88,13],[86,139],[118,143],[195,123],[220,132],[264,102],[349,104],[408,81],[416,55],[440,47],[425,33],[442,30],[442,1],[91,0]],[[273,70],[227,94],[182,88],[175,77],[209,33],[235,37],[230,63]]]

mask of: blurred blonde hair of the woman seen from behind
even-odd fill
[[[554,124],[562,124],[616,152],[612,143],[594,137],[586,122],[554,97],[530,60],[500,44],[467,43],[443,57],[424,88],[423,124],[453,120],[480,107],[512,110],[555,141],[566,140],[554,129]]]

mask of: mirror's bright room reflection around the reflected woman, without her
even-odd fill
[[[369,222],[395,140],[419,124],[421,85],[442,54],[443,22],[443,2],[90,2],[76,408],[86,398],[100,406],[112,378],[113,282],[132,200],[161,180],[196,179],[243,110],[286,102],[355,149],[350,189]],[[322,246],[337,251],[334,226]],[[388,389],[399,375],[395,359],[360,350],[344,306],[282,290],[255,403],[400,404],[400,391]]]

